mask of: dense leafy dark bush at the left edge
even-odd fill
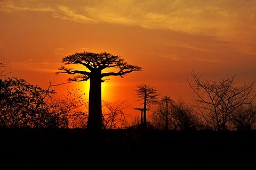
[[[0,127],[45,128],[54,115],[47,112],[45,99],[54,90],[42,89],[23,79],[7,78],[0,82]]]

